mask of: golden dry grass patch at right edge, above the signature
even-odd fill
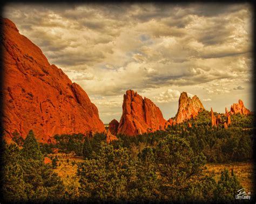
[[[253,192],[254,179],[253,179],[253,164],[252,163],[230,163],[230,164],[207,164],[207,170],[204,170],[206,175],[215,173],[215,180],[218,182],[220,179],[221,171],[226,168],[231,173],[232,169],[237,176],[242,187]]]

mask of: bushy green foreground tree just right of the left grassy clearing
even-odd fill
[[[95,159],[85,159],[78,166],[82,198],[89,201],[132,199],[136,168],[126,149],[114,150],[112,145],[101,142]]]

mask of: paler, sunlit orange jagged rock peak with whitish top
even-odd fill
[[[187,119],[195,118],[198,112],[203,110],[205,110],[205,108],[196,95],[191,99],[187,96],[186,92],[183,92],[179,97],[179,109],[175,121],[176,123],[182,123]]]

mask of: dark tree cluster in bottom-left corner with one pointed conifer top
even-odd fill
[[[5,202],[43,202],[60,199],[64,186],[44,157],[33,132],[16,144],[3,145],[2,193]]]

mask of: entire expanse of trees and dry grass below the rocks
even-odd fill
[[[209,115],[200,112],[165,131],[118,135],[110,144],[104,134],[56,135],[56,144],[38,144],[32,131],[25,140],[16,132],[19,147],[4,144],[5,199],[234,201],[238,189],[253,185],[253,117],[232,116],[225,129],[212,128]],[[43,163],[43,155],[51,164]]]

